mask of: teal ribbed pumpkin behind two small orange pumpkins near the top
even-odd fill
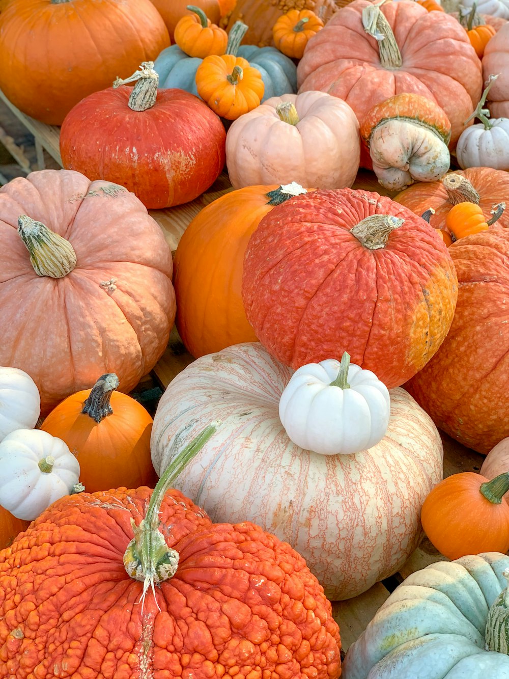
[[[256,45],[240,45],[246,24],[237,22],[230,31],[227,54],[236,54],[248,60],[261,73],[265,92],[262,101],[271,96],[297,92],[297,67],[287,56],[274,47],[259,48]],[[154,63],[159,75],[160,88],[179,88],[198,96],[196,71],[202,59],[187,56],[177,45],[163,50]]]

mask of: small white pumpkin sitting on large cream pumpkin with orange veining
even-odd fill
[[[281,394],[279,416],[290,441],[320,455],[352,455],[383,439],[389,390],[371,370],[326,359],[303,365]]]

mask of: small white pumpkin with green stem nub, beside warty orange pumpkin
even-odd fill
[[[0,443],[0,504],[17,519],[33,521],[78,481],[79,462],[48,432],[18,429]]]

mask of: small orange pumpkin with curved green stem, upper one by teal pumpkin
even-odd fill
[[[225,54],[228,34],[215,24],[200,7],[187,5],[194,14],[186,15],[175,26],[175,42],[188,56],[203,59],[209,54]]]

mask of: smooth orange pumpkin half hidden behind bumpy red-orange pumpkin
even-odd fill
[[[291,185],[277,184],[231,191],[206,206],[185,230],[174,257],[175,320],[196,359],[257,341],[242,304],[244,253],[262,217],[293,195]]]

